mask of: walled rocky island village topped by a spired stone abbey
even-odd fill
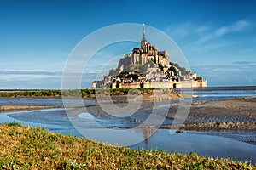
[[[94,81],[92,88],[201,88],[207,80],[192,71],[170,62],[169,54],[158,51],[149,43],[143,30],[140,48],[134,48],[119,66],[110,70],[102,81]]]

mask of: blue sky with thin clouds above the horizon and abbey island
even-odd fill
[[[2,0],[0,89],[61,88],[62,71],[73,48],[91,32],[120,23],[144,23],[172,37],[191,70],[206,77],[208,86],[253,86],[255,8],[253,0]],[[131,52],[130,46],[123,50]],[[111,54],[105,51],[102,57]],[[91,68],[83,88],[90,88],[95,78],[97,70]]]

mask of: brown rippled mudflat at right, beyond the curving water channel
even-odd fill
[[[173,106],[167,117],[174,118],[176,111]],[[256,97],[192,104],[182,128],[256,130]]]

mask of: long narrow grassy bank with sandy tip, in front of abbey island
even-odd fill
[[[165,97],[160,96],[164,94]],[[108,88],[108,89],[71,89],[71,90],[23,90],[23,91],[2,91],[0,97],[4,98],[16,98],[16,97],[29,97],[29,98],[68,98],[76,97],[83,99],[96,99],[104,98],[108,96],[125,96],[132,95],[137,96],[151,96],[154,95],[154,99],[159,96],[162,99],[181,99],[188,97],[187,94],[181,94],[175,92],[172,88]],[[154,100],[153,99],[153,100]],[[152,99],[150,99],[152,100]]]

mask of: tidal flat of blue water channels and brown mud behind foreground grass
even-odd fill
[[[230,91],[221,91],[223,94],[215,91],[212,96],[218,94],[217,99],[206,96],[209,93],[209,91],[203,92],[203,94],[202,92],[195,92],[196,95],[199,94],[199,97],[192,99],[189,115],[181,126],[183,133],[174,136],[170,136],[168,132],[172,130],[170,128],[172,128],[171,124],[175,117],[175,111],[177,111],[177,99],[144,101],[138,110],[130,116],[125,116],[125,112],[122,111],[118,113],[119,115],[113,116],[103,111],[96,99],[83,100],[86,112],[83,108],[70,108],[74,112],[69,112],[72,114],[68,115],[63,108],[62,99],[59,97],[1,98],[1,106],[12,105],[12,109],[15,109],[15,105],[17,105],[19,108],[15,111],[4,110],[0,114],[0,120],[1,123],[15,121],[32,127],[47,127],[50,132],[69,133],[108,144],[126,145],[131,149],[158,148],[167,152],[179,150],[183,154],[193,151],[200,156],[231,158],[236,161],[250,161],[255,164],[256,111],[255,97],[253,97],[255,91],[236,90],[232,91],[232,95]],[[112,96],[113,101],[116,101],[114,105],[125,108],[127,99],[121,98],[122,96]],[[102,105],[109,104],[108,100],[102,101]],[[73,99],[70,102],[76,104],[78,101]],[[136,102],[131,101],[130,103]],[[186,102],[180,103],[181,107],[186,104]],[[21,109],[20,105],[23,105],[24,108]],[[34,107],[35,111],[33,109],[26,111],[26,107],[29,108],[29,106]],[[154,111],[152,112],[153,108]],[[137,128],[143,125],[148,115],[152,114],[165,116],[165,121],[161,125],[155,126],[153,123],[151,127]],[[93,121],[100,123],[102,127],[99,129],[90,127],[89,122]],[[74,124],[78,126],[82,124],[84,127],[84,122],[88,122],[89,128],[85,127],[87,134],[90,134],[87,136],[84,136],[83,132],[79,132],[78,128],[73,126]],[[141,139],[142,142],[128,145],[125,144],[128,141],[126,138],[113,138],[109,135],[110,132],[119,131],[129,132],[127,133],[131,135],[129,139]]]

